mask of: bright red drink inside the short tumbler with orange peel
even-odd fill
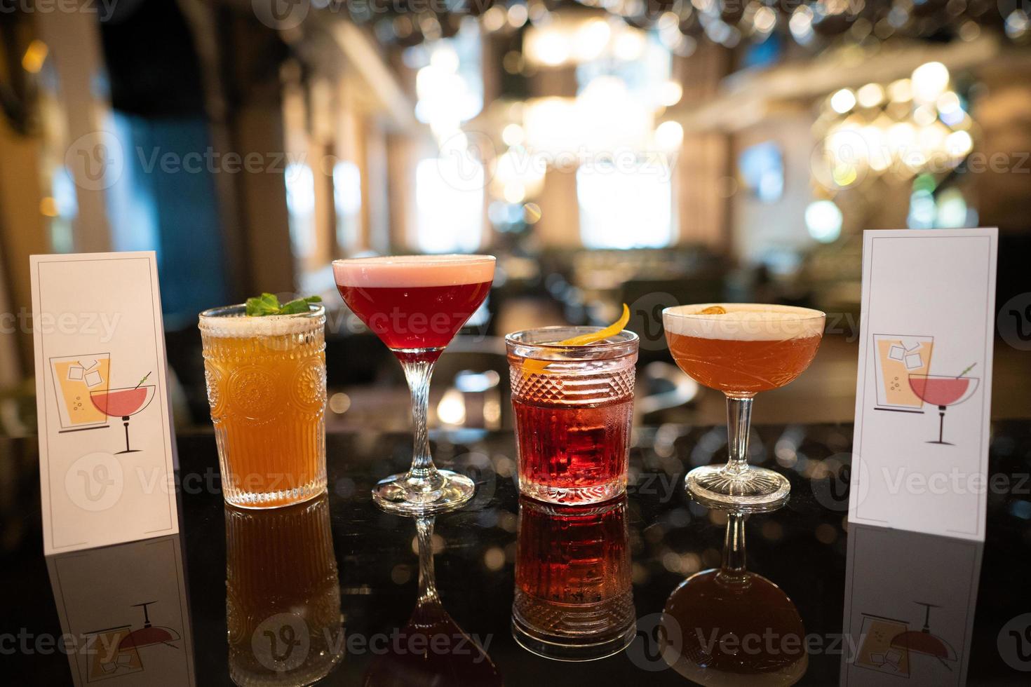
[[[513,397],[520,489],[560,503],[599,501],[623,491],[633,406],[632,396],[589,406]]]

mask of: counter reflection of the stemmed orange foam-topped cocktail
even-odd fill
[[[729,514],[720,569],[692,575],[669,595],[662,656],[701,685],[793,685],[809,664],[805,628],[777,585],[745,570],[745,517]]]

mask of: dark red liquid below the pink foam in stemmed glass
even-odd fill
[[[390,348],[443,348],[491,290],[491,282],[454,286],[345,286],[344,303]]]

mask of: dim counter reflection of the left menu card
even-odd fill
[[[76,687],[194,685],[178,535],[47,556]]]

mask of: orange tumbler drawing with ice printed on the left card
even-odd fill
[[[107,426],[107,415],[90,402],[94,392],[106,391],[110,353],[86,353],[49,358],[60,433]]]

